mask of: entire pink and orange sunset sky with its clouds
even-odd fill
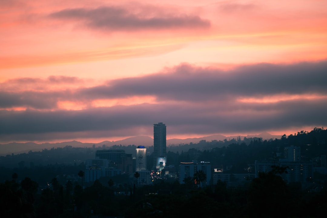
[[[0,1],[0,143],[327,123],[327,1]]]

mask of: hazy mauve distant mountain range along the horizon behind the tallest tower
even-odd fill
[[[223,141],[224,139],[231,140],[231,139],[237,139],[238,137],[241,137],[241,140],[244,139],[245,136],[223,136],[223,135],[211,135],[206,137],[200,137],[200,138],[188,138],[188,139],[168,139],[167,140],[167,146],[172,145],[179,145],[179,144],[189,144],[189,143],[199,143],[201,140],[206,140],[207,142],[211,142],[213,140],[217,141]],[[262,138],[263,140],[267,139],[280,139],[282,136],[276,136],[276,135],[270,135],[267,132],[261,133],[259,135],[248,135],[247,138]],[[100,143],[82,143],[77,141],[71,141],[71,142],[61,142],[61,143],[33,143],[33,142],[27,142],[27,143],[8,143],[8,144],[0,144],[0,155],[5,156],[8,154],[19,154],[19,153],[27,153],[28,151],[41,151],[42,149],[51,149],[51,148],[57,148],[57,147],[65,147],[66,145],[72,146],[72,147],[92,147],[95,144],[95,147],[102,147],[102,145],[106,145],[107,147],[111,147],[113,145],[144,145],[146,147],[153,145],[153,138],[149,136],[136,136],[136,137],[130,137],[123,140],[118,141],[103,141]]]

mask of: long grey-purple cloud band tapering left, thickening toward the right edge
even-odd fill
[[[229,72],[182,65],[171,74],[119,79],[108,86],[81,90],[83,96],[156,95],[159,99],[213,100],[230,96],[327,93],[327,62],[258,64]]]

